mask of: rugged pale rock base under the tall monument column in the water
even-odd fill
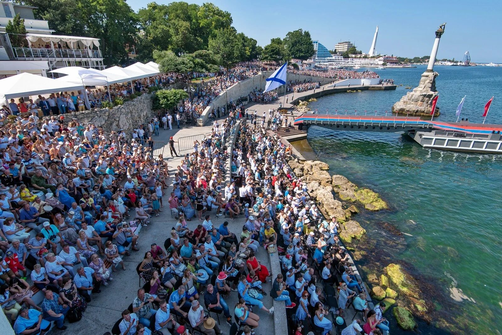
[[[432,98],[437,94],[436,77],[439,74],[433,71],[422,73],[420,83],[413,91],[406,93],[398,102],[392,106],[394,113],[430,116],[432,110]],[[439,108],[436,107],[434,116],[439,115]]]

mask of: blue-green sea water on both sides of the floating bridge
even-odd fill
[[[309,107],[319,113],[347,109],[373,114],[378,110],[382,115],[408,91],[406,86],[418,84],[424,70],[380,70],[381,77],[403,86],[396,91],[332,94]],[[467,95],[462,117],[482,122],[484,104],[494,95],[486,122],[502,122],[502,68],[439,66],[435,70],[440,74],[436,80],[439,120],[456,120],[457,105]],[[441,306],[440,314],[455,317],[459,323],[467,320],[473,333],[500,333],[502,156],[424,149],[399,133],[311,127],[308,141],[319,159],[329,163],[332,174],[373,189],[390,205],[389,211],[355,217],[384,256],[380,265],[405,262],[424,283],[434,285],[431,294]],[[382,223],[412,236],[392,234]],[[370,266],[371,261],[363,259],[361,264]],[[471,300],[454,301],[449,296],[451,287],[461,289]],[[466,332],[465,325],[459,327]],[[420,330],[438,333],[425,322],[420,323]]]

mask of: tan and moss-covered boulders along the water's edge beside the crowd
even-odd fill
[[[363,206],[368,211],[388,209],[387,203],[379,194],[366,188],[358,188],[342,175],[331,176],[329,165],[319,160],[301,161],[298,158],[288,161],[296,177],[307,183],[308,193],[316,199],[319,209],[327,217],[335,217],[340,224],[339,237],[351,245],[363,239],[366,230],[354,220],[359,213],[357,206]],[[338,199],[336,199],[338,196]],[[342,203],[343,202],[343,203]],[[357,247],[347,246],[354,260],[360,260],[366,255]],[[400,264],[390,263],[380,272],[363,267],[366,272],[367,286],[373,299],[383,301],[387,310],[392,307],[398,325],[405,330],[418,327],[415,317],[431,323],[428,314],[434,310],[433,302],[424,296],[419,282]],[[369,272],[367,272],[369,270]]]

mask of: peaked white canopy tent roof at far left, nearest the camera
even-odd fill
[[[0,80],[0,101],[36,94],[83,89],[83,85],[54,80],[31,73],[21,73]]]

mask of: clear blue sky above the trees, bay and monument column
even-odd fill
[[[148,0],[127,0],[133,10]],[[169,4],[169,0],[157,0]],[[188,3],[201,5],[204,1]],[[207,2],[207,1],[206,1]],[[502,1],[370,1],[370,0],[213,0],[230,12],[233,27],[265,46],[299,28],[328,49],[350,40],[368,52],[379,26],[376,52],[401,57],[430,55],[434,31],[446,22],[438,58],[461,60],[469,51],[472,62],[502,63]]]

